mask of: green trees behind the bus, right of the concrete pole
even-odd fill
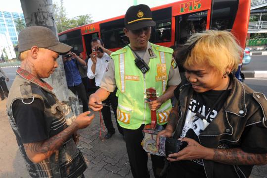
[[[68,18],[66,9],[63,5],[63,0],[60,0],[59,5],[57,3],[54,3],[53,7],[58,33],[68,30],[70,28],[86,25],[92,22],[92,17],[90,14],[78,15],[74,18]]]

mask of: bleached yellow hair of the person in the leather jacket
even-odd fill
[[[237,44],[232,33],[227,31],[207,30],[193,34],[185,44],[192,47],[191,52],[183,62],[187,68],[190,65],[208,65],[218,72],[237,69],[243,49]],[[190,50],[190,49],[188,49]]]

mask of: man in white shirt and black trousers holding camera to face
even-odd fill
[[[103,41],[99,38],[94,38],[91,41],[92,54],[90,54],[90,59],[88,61],[88,72],[87,75],[90,79],[95,79],[95,86],[99,88],[101,80],[104,73],[108,70],[108,62],[110,61],[111,51],[104,48]],[[123,135],[122,127],[117,121],[117,107],[118,107],[118,97],[116,97],[116,91],[112,92],[103,103],[111,105],[113,113],[115,115],[116,123],[119,132]],[[104,107],[101,110],[103,115],[103,120],[107,128],[107,133],[105,139],[109,139],[115,133],[115,128],[112,123],[111,113],[109,107]]]

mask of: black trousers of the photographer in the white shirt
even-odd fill
[[[105,103],[107,105],[111,105],[112,106],[118,130],[123,135],[123,129],[119,125],[119,122],[117,120],[118,97],[116,97],[116,92],[117,92],[117,88],[115,89],[114,92],[110,93],[108,98],[106,100],[102,101],[102,103]],[[110,107],[105,107],[104,106],[103,109],[101,110],[101,112],[102,112],[103,120],[104,120],[104,123],[105,123],[105,126],[106,126],[108,132],[115,133],[115,128],[114,128],[112,120],[111,120]]]

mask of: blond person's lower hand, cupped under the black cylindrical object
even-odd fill
[[[187,142],[188,145],[178,153],[168,155],[167,160],[171,162],[180,160],[205,159],[208,157],[208,155],[213,153],[213,149],[204,147],[191,138],[184,137],[179,140]]]

